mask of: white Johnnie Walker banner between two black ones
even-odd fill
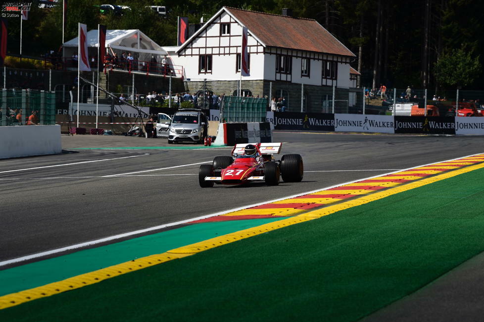
[[[368,114],[335,114],[337,132],[393,133],[393,116]]]

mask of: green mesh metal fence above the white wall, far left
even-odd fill
[[[0,126],[55,124],[54,92],[3,89],[0,93]]]

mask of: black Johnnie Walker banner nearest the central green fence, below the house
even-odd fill
[[[334,131],[334,114],[274,112],[274,129],[295,131]]]

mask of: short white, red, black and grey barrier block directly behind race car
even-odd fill
[[[234,146],[239,143],[272,142],[269,122],[261,123],[220,123],[214,146]]]

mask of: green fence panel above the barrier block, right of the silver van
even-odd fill
[[[265,122],[267,99],[228,96],[221,102],[221,119],[227,123]]]

